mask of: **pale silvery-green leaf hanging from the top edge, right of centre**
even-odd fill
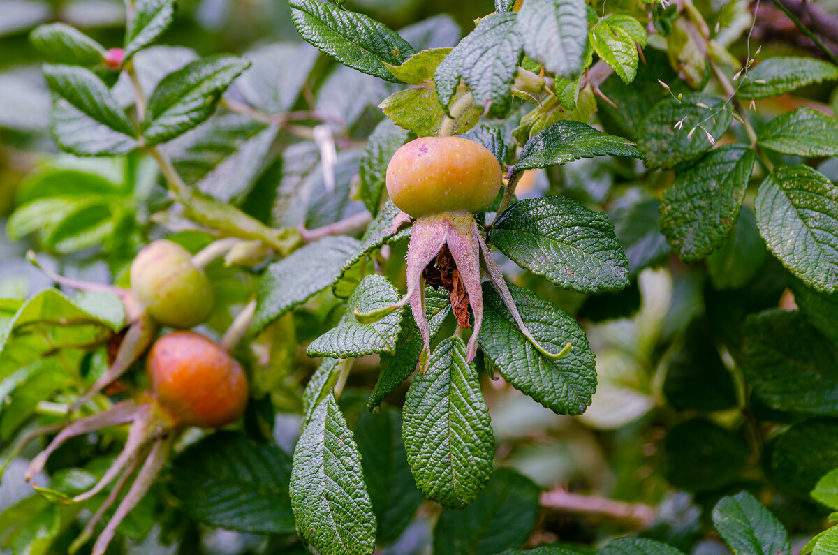
[[[524,52],[561,77],[582,72],[587,52],[587,7],[583,0],[529,0],[518,12]]]

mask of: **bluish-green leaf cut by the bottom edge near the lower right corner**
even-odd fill
[[[713,525],[734,553],[791,555],[783,525],[747,491],[722,497],[713,507]]]

